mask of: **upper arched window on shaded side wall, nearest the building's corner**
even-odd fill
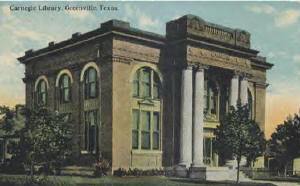
[[[84,74],[84,97],[85,99],[96,98],[98,96],[97,71],[93,67],[88,68]]]

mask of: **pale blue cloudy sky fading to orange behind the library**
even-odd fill
[[[10,6],[95,5],[118,11],[10,11]],[[299,2],[0,2],[0,105],[24,103],[24,67],[16,58],[28,49],[87,32],[109,19],[165,34],[165,23],[185,14],[251,33],[251,47],[274,67],[268,71],[266,135],[300,108]]]

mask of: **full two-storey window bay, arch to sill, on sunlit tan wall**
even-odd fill
[[[161,148],[161,83],[158,74],[148,67],[134,74],[132,110],[132,149]],[[149,101],[141,101],[141,98]],[[137,104],[138,103],[138,104]]]

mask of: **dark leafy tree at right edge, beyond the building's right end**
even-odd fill
[[[300,156],[300,116],[288,117],[283,124],[278,125],[269,141],[270,153],[279,164],[279,170],[284,169],[287,175],[288,165]]]

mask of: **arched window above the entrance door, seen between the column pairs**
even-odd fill
[[[218,88],[214,81],[205,80],[204,84],[204,115],[206,119],[217,119]]]

